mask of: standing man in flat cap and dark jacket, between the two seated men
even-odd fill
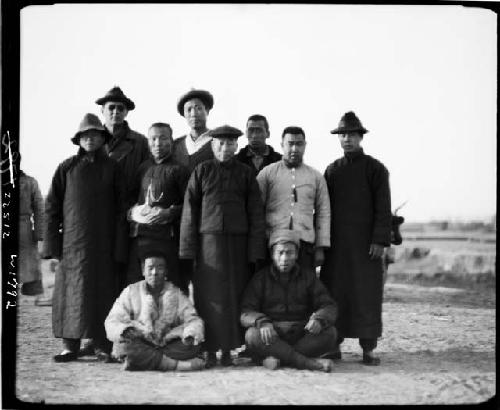
[[[234,154],[242,132],[211,131],[215,158],[191,174],[184,197],[179,255],[195,262],[193,293],[205,322],[207,366],[232,364],[231,349],[243,345],[240,300],[250,264],[264,256],[264,213],[253,171]]]

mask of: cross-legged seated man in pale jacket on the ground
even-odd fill
[[[200,370],[204,324],[189,299],[167,279],[165,256],[144,254],[144,279],[127,286],[104,326],[124,370]]]

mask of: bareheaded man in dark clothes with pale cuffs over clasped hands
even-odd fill
[[[155,123],[148,131],[151,158],[139,167],[137,204],[131,209],[131,236],[127,283],[141,280],[140,258],[159,250],[166,256],[168,280],[188,293],[181,281],[179,229],[189,171],[172,160],[172,128]]]

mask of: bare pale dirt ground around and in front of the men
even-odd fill
[[[52,362],[61,342],[51,308],[23,296],[18,308],[16,394],[45,403],[436,404],[478,403],[496,394],[495,286],[387,283],[382,363],[359,363],[343,344],[333,373],[237,366],[193,373],[125,372],[93,357]]]

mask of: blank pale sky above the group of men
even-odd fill
[[[330,130],[353,110],[365,152],[390,172],[407,221],[489,220],[496,210],[496,15],[461,6],[55,5],[21,14],[23,170],[48,192],[70,138],[118,85],[132,129],[168,122],[191,87],[207,125],[270,123],[270,145],[301,126],[321,173],[342,156]],[[101,117],[102,118],[102,117]],[[239,139],[240,147],[246,138]]]

